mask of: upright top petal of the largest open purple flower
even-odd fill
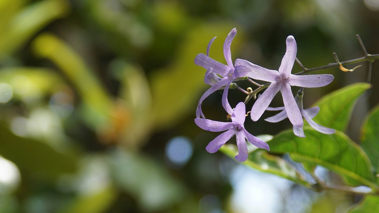
[[[288,36],[286,39],[287,50],[285,55],[283,56],[282,63],[279,67],[279,73],[284,76],[289,76],[291,74],[291,70],[293,67],[293,63],[296,59],[296,52],[298,51],[298,47],[296,46],[296,41],[293,36]]]

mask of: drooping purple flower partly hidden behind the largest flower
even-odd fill
[[[331,129],[331,128],[327,128],[327,127],[324,127],[322,125],[319,125],[318,123],[314,122],[312,120],[313,117],[315,117],[318,113],[318,111],[320,110],[319,107],[312,107],[312,108],[309,108],[309,109],[306,109],[304,110],[303,109],[303,92],[302,91],[299,91],[298,92],[298,95],[295,97],[295,100],[296,100],[296,103],[300,109],[300,113],[301,115],[305,118],[305,121],[308,122],[308,124],[313,127],[315,130],[317,130],[318,132],[321,132],[321,133],[324,133],[324,134],[333,134],[335,133],[335,130],[334,129]],[[268,121],[268,122],[272,122],[272,123],[276,123],[276,122],[279,122],[279,121],[283,121],[284,119],[286,119],[288,116],[287,116],[287,111],[284,107],[276,107],[276,108],[272,108],[272,107],[267,107],[268,111],[277,111],[277,110],[283,110],[281,111],[280,113],[272,116],[272,117],[268,117],[265,119],[265,121]],[[293,126],[293,133],[296,135],[296,136],[299,136],[301,138],[305,138],[305,135],[304,135],[304,131],[303,131],[303,128],[302,127],[295,127]]]

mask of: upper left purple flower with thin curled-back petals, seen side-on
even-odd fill
[[[235,67],[233,66],[232,55],[230,53],[230,45],[232,44],[233,38],[235,37],[236,33],[237,30],[234,28],[232,31],[230,31],[224,42],[224,57],[226,59],[227,66],[225,64],[219,63],[216,60],[213,60],[208,56],[210,45],[215,38],[213,38],[208,44],[207,55],[199,53],[195,58],[195,64],[207,69],[207,73],[205,74],[204,79],[205,83],[212,85],[211,88],[205,91],[199,100],[199,104],[196,108],[196,117],[198,118],[200,116],[205,118],[201,110],[201,104],[204,99],[223,86],[225,86],[225,89],[224,93],[222,94],[222,106],[227,111],[227,113],[233,113],[233,109],[230,107],[227,100],[229,85],[232,83],[232,81],[238,80],[237,78],[246,77],[247,74],[251,72],[251,69],[249,67],[242,65]],[[219,78],[216,74],[220,75],[222,78]]]

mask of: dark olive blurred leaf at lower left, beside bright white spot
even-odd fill
[[[58,152],[49,145],[14,135],[5,125],[0,126],[0,155],[15,163],[21,172],[55,179],[77,171],[73,155]]]

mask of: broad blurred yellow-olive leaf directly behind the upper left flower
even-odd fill
[[[215,60],[225,63],[222,44],[232,28],[230,25],[216,23],[192,28],[179,45],[174,63],[156,70],[150,76],[155,126],[167,127],[177,122],[182,115],[195,115],[198,100],[209,88],[209,85],[204,83],[206,70],[196,66],[195,56],[205,53],[210,39],[219,36],[212,44],[210,55]],[[234,55],[238,54],[241,38],[243,34],[238,31],[232,44]]]

